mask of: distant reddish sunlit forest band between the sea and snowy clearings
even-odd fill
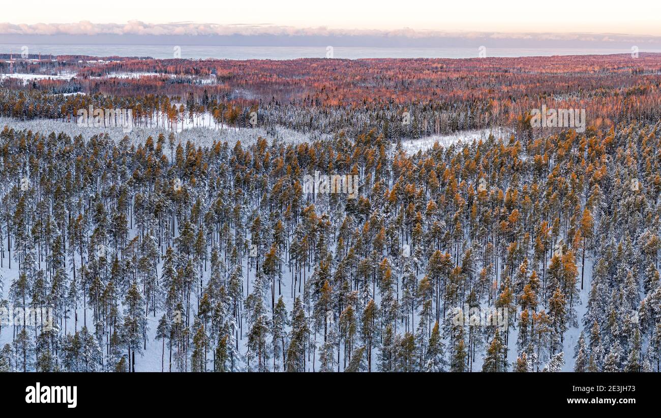
[[[531,109],[542,104],[584,108],[590,124],[606,130],[661,116],[659,54],[65,63],[75,78],[5,79],[0,114],[75,120],[81,108],[114,105],[132,108],[137,125],[176,127],[198,114],[206,114],[208,124],[251,126],[249,114],[256,111],[256,124],[266,128],[352,137],[375,130],[388,139],[496,126],[523,132]],[[50,74],[54,65],[26,69]],[[75,92],[87,97],[61,95]]]

